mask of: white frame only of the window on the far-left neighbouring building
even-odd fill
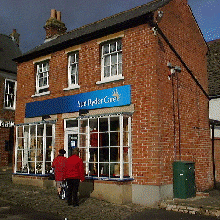
[[[14,91],[13,94],[10,93],[9,91],[9,87],[8,87],[8,83],[7,82],[11,82],[14,83]],[[12,80],[12,79],[5,79],[5,91],[4,91],[4,108],[5,109],[11,109],[11,110],[15,110],[16,107],[16,91],[17,91],[17,82],[16,80]],[[8,106],[8,101],[9,98],[13,99],[13,106]]]

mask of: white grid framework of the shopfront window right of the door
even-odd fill
[[[98,175],[97,176],[95,176],[95,177],[92,177],[91,175],[90,175],[90,170],[89,170],[89,167],[90,167],[90,165],[92,164],[92,163],[94,163],[94,162],[91,162],[91,161],[89,161],[89,158],[90,158],[90,149],[91,149],[91,143],[90,143],[90,130],[91,130],[91,125],[90,125],[90,120],[93,120],[93,119],[97,119],[98,120],[98,128],[97,128],[97,132],[98,132],[98,134],[101,134],[101,133],[103,133],[103,132],[101,132],[100,130],[99,130],[99,120],[100,119],[103,119],[103,118],[105,118],[107,121],[108,121],[108,131],[106,131],[107,133],[109,133],[109,134],[111,134],[111,132],[115,132],[115,131],[111,131],[110,130],[110,120],[111,120],[111,117],[118,117],[119,118],[119,135],[120,135],[120,143],[119,143],[119,149],[120,149],[120,161],[117,161],[116,163],[118,163],[119,164],[119,166],[120,166],[120,175],[119,175],[119,177],[118,178],[114,178],[114,177],[111,177],[111,175],[110,175],[110,168],[109,168],[109,177],[102,177],[102,176],[100,176],[100,170],[99,170],[99,164],[103,164],[103,163],[108,163],[108,165],[109,165],[109,167],[110,167],[110,165],[111,164],[115,164],[115,162],[111,162],[111,161],[109,161],[109,162],[103,162],[103,161],[99,161],[99,150],[100,150],[100,147],[101,146],[99,146],[99,144],[98,144],[98,161],[97,161],[97,167],[98,167]],[[123,129],[123,120],[124,120],[124,118],[127,118],[127,122],[128,122],[128,130],[127,131],[124,131]],[[72,128],[72,131],[71,131],[71,128],[70,127],[66,127],[66,124],[67,124],[67,121],[69,121],[69,120],[78,120],[78,129],[76,129],[76,127],[73,127]],[[80,132],[80,122],[82,122],[82,121],[84,121],[86,124],[87,124],[87,126],[88,126],[88,128],[90,128],[90,129],[88,129],[88,128],[86,128],[86,133],[81,133]],[[132,179],[132,147],[131,147],[131,115],[123,115],[123,114],[116,114],[116,115],[106,115],[106,116],[96,116],[96,117],[86,117],[86,118],[84,118],[84,117],[79,117],[79,118],[70,118],[70,119],[64,119],[64,129],[65,129],[65,149],[66,149],[66,151],[68,151],[68,146],[67,146],[67,135],[68,134],[71,134],[71,133],[74,133],[74,134],[78,134],[78,137],[80,136],[80,135],[85,135],[85,137],[86,137],[86,142],[87,142],[87,144],[86,144],[86,146],[82,146],[82,144],[80,143],[80,139],[78,139],[78,147],[79,147],[79,149],[81,150],[81,151],[84,151],[84,158],[85,158],[85,161],[83,161],[84,162],[84,164],[85,164],[85,168],[86,168],[86,177],[87,178],[94,178],[94,179],[109,179],[109,180],[126,180],[126,179]],[[127,135],[128,135],[128,143],[127,143],[127,145],[126,146],[124,146],[123,145],[123,143],[124,143],[124,140],[123,140],[123,138],[124,138],[124,134],[125,133],[127,133]],[[99,137],[99,135],[98,135],[98,137]],[[109,136],[110,137],[110,136]],[[98,141],[98,143],[99,143],[99,141]],[[109,147],[109,149],[111,148],[111,149],[113,149],[114,148],[114,146],[106,146],[106,147]],[[123,154],[123,149],[124,149],[124,147],[127,147],[128,148],[128,153],[127,153],[127,155],[128,155],[128,162],[124,162],[124,154]],[[101,147],[101,148],[103,148],[103,147]],[[110,158],[110,151],[109,151],[109,158]],[[129,168],[129,177],[124,177],[124,165],[125,164],[128,164],[128,168]]]

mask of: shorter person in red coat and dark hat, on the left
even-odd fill
[[[61,183],[64,180],[64,166],[65,161],[67,160],[66,157],[64,157],[64,154],[66,151],[64,149],[59,150],[59,155],[53,160],[52,167],[55,171],[55,181],[56,181],[56,187],[57,187],[57,193],[60,196],[61,192]]]

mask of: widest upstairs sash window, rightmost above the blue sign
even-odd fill
[[[122,76],[122,42],[121,39],[102,45],[102,79],[117,79]]]

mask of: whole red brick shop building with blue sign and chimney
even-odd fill
[[[14,178],[44,176],[60,148],[78,146],[97,198],[172,198],[179,160],[195,163],[197,191],[213,186],[207,45],[186,0],[68,33],[52,10],[45,29],[45,43],[16,59]]]

